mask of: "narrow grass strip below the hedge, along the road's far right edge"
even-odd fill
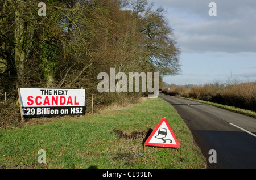
[[[215,103],[215,102],[196,100],[196,99],[193,99],[193,98],[185,98],[185,97],[180,97],[180,98],[184,98],[186,100],[191,100],[191,101],[196,101],[196,102],[201,102],[201,103],[204,103],[204,104],[216,106],[218,108],[230,110],[230,111],[235,112],[235,113],[240,113],[240,114],[244,114],[244,115],[248,115],[250,117],[256,118],[256,112],[253,112],[251,110],[241,109],[241,108],[237,108],[237,107],[234,107],[234,106],[218,104],[218,103]]]

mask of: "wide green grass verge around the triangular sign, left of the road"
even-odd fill
[[[148,147],[142,141],[166,117],[181,144]],[[117,132],[122,132],[119,138]],[[141,133],[135,133],[141,132]],[[38,151],[46,150],[46,164]],[[140,156],[138,153],[142,153]],[[176,110],[162,98],[104,114],[56,118],[0,131],[0,168],[204,168],[205,158]]]

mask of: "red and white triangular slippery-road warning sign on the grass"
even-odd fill
[[[158,123],[158,126],[156,126],[155,130],[146,140],[145,145],[172,148],[180,147],[180,144],[177,141],[174,132],[172,132],[166,118],[162,118],[162,120]]]

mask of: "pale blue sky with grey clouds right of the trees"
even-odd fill
[[[151,0],[150,2],[152,2]],[[241,82],[256,82],[255,0],[154,0],[180,46],[180,75],[164,82],[177,85],[223,82],[232,74]],[[209,3],[217,16],[209,16]]]

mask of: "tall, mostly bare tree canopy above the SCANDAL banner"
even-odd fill
[[[110,68],[162,77],[179,72],[180,50],[162,7],[147,0],[45,0],[40,16],[39,3],[0,2],[0,93],[18,87],[97,92],[97,75]]]

